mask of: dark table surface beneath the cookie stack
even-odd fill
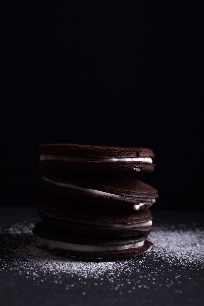
[[[165,225],[165,229],[174,230],[170,236],[177,233],[177,228],[178,231],[182,228],[182,231],[179,232],[180,239],[183,233],[183,239],[187,237],[189,243],[193,245],[194,241],[191,241],[194,237],[193,233],[200,235],[204,230],[204,214],[201,211],[152,210],[152,213],[159,235],[164,233],[165,236],[165,230],[159,231],[159,228],[162,229],[163,225]],[[113,266],[112,263],[107,263],[107,269],[106,263],[102,263],[101,266],[97,262],[93,262],[91,265],[89,263],[88,265],[82,264],[83,269],[94,270],[96,268],[95,275],[94,272],[88,275],[89,271],[87,271],[87,274],[86,271],[76,272],[73,260],[68,260],[66,271],[63,268],[60,271],[57,270],[57,266],[55,273],[53,269],[50,271],[47,271],[47,268],[43,270],[42,261],[46,257],[38,257],[36,265],[35,258],[25,259],[27,254],[27,251],[25,251],[24,259],[15,260],[15,256],[18,256],[18,251],[15,250],[21,247],[22,243],[25,250],[29,249],[31,243],[34,245],[33,248],[36,247],[31,232],[28,230],[26,234],[23,234],[22,230],[18,231],[18,228],[21,229],[26,224],[30,226],[30,223],[36,223],[38,220],[39,217],[33,208],[0,207],[0,236],[3,245],[0,248],[1,306],[119,306],[125,305],[125,303],[129,306],[204,305],[204,258],[202,262],[202,252],[199,251],[199,248],[203,248],[203,244],[199,245],[197,243],[198,245],[193,246],[193,250],[198,251],[195,252],[195,263],[192,262],[192,254],[189,254],[187,259],[183,259],[181,254],[181,260],[178,256],[176,258],[173,256],[172,262],[169,259],[166,260],[165,256],[158,256],[157,258],[159,253],[157,253],[157,245],[155,245],[150,254],[115,263],[115,269],[114,263]],[[16,232],[14,231],[15,228],[17,229]],[[188,232],[188,229],[190,229],[190,232]],[[171,243],[172,238],[168,240],[168,233],[170,232],[167,231],[166,233],[166,243]],[[186,247],[185,243],[181,247]],[[192,248],[190,250],[192,251]],[[170,251],[171,249],[168,250],[168,252]],[[165,255],[165,245],[162,252],[161,254]],[[19,253],[22,255],[23,248]],[[186,254],[186,252],[184,253]],[[199,261],[196,261],[198,256]],[[59,259],[62,264],[67,260],[65,258],[63,260],[61,257],[56,257],[56,259]],[[49,260],[49,257],[47,257],[47,260]],[[187,261],[187,264],[182,261]],[[30,273],[34,264],[35,269]],[[80,262],[76,266],[79,269]]]

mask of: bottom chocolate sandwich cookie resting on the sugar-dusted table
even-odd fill
[[[39,222],[33,233],[39,247],[79,258],[119,259],[137,256],[152,248],[146,236],[96,237],[65,231],[45,222]]]

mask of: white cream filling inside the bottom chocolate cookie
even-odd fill
[[[64,251],[77,251],[77,252],[106,252],[106,251],[120,251],[132,248],[139,248],[144,245],[144,240],[131,244],[124,245],[85,245],[68,243],[61,241],[54,241],[47,238],[38,237],[37,244],[39,247],[46,246],[49,250],[60,249]]]

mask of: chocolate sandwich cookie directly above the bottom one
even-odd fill
[[[152,229],[150,210],[96,210],[84,203],[69,203],[60,197],[40,197],[36,203],[39,216],[53,226],[76,233],[91,235],[148,235]]]

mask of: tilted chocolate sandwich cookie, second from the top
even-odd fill
[[[44,175],[40,185],[43,190],[75,201],[131,210],[147,209],[158,197],[155,188],[133,177],[87,177],[80,180],[66,175]]]

